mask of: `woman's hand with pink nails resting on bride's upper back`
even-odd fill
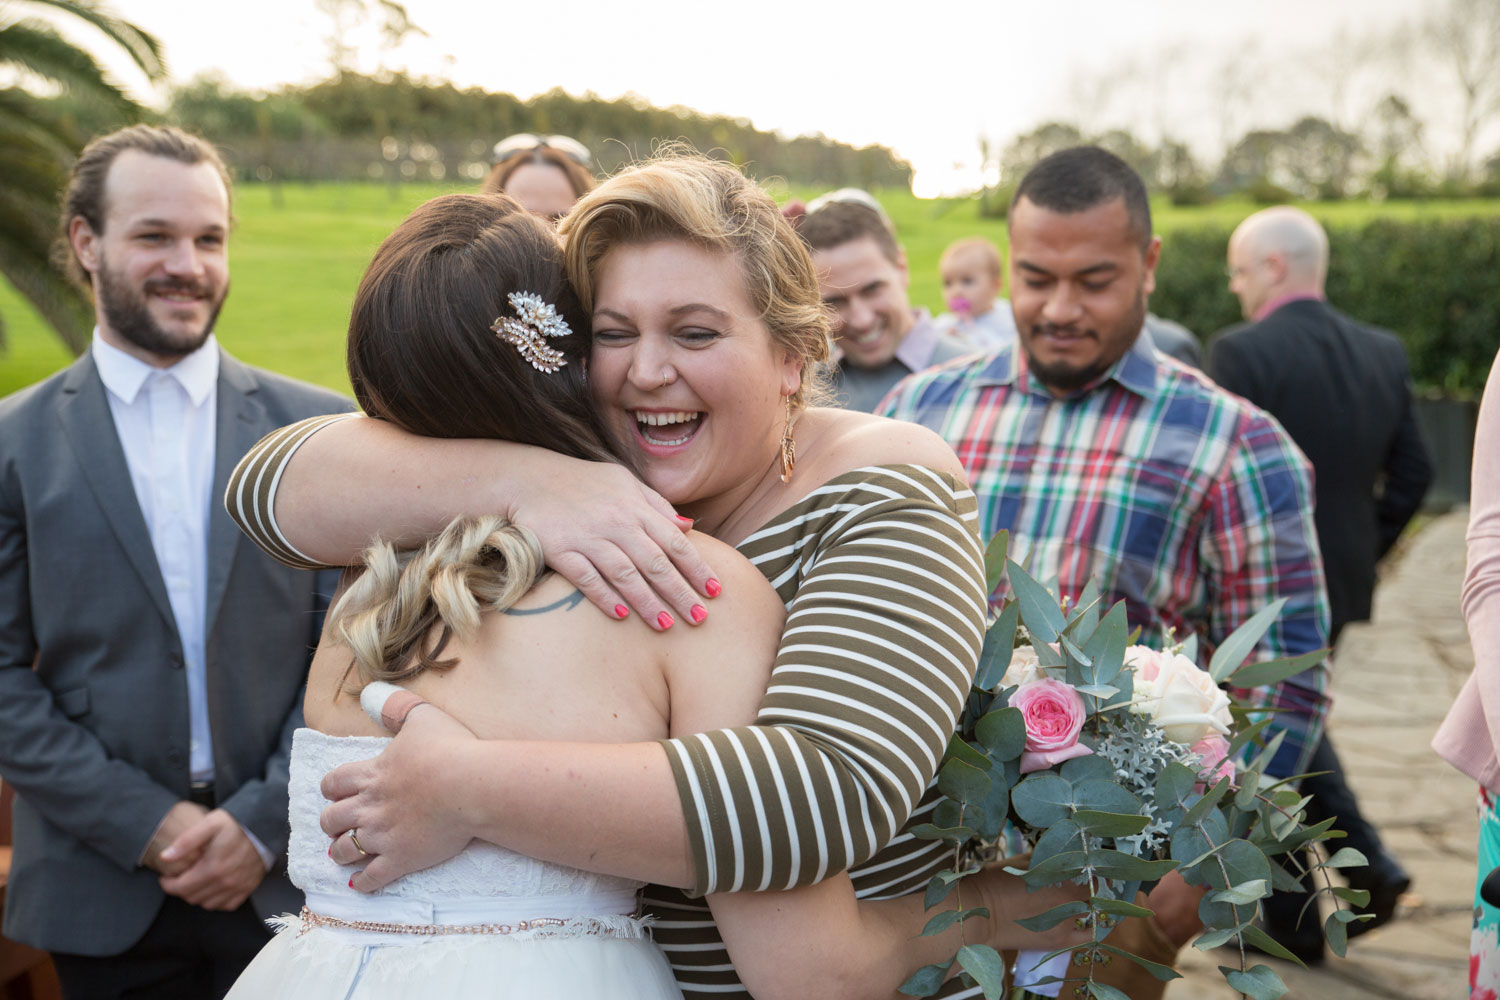
[[[686,537],[693,522],[624,468],[549,462],[514,493],[512,520],[534,531],[548,565],[606,615],[622,618],[628,604],[657,630],[696,625],[705,616],[699,595],[718,597],[714,571]]]

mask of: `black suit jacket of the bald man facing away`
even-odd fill
[[[1346,622],[1370,618],[1376,561],[1432,481],[1406,349],[1328,303],[1298,300],[1221,333],[1208,370],[1281,421],[1312,462],[1332,642]]]

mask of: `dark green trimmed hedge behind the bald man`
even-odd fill
[[[1224,276],[1230,232],[1212,226],[1162,237],[1152,312],[1204,340],[1240,321]],[[1328,237],[1329,301],[1395,331],[1419,387],[1478,396],[1500,348],[1500,219],[1378,219],[1330,228]]]

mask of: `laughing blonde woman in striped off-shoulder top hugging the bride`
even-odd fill
[[[380,759],[326,780],[333,856],[368,862],[352,885],[369,891],[471,838],[645,879],[657,883],[646,891],[657,940],[688,996],[894,994],[922,964],[915,952],[952,945],[916,937],[921,889],[951,858],[904,829],[934,804],[932,778],[982,637],[974,496],[926,430],[807,405],[828,354],[812,262],[734,168],[675,157],[626,171],[561,231],[592,316],[590,390],[606,423],[646,484],[736,546],[786,603],[770,688],[753,724],[660,742],[477,741],[440,712],[414,712]],[[248,456],[228,504],[262,546],[300,564],[346,561],[372,534],[422,537],[496,507],[555,553],[548,517],[528,514],[573,474],[558,471],[564,462],[369,420],[309,421]],[[591,466],[584,489],[609,489],[602,471]],[[496,481],[508,493],[498,504]],[[568,574],[568,559],[549,562]],[[604,559],[592,565],[573,565],[570,579],[626,616],[608,586],[600,600],[597,577],[620,577]],[[687,609],[694,622],[706,615]],[[675,625],[664,609],[656,622]],[[374,858],[356,850],[352,828]],[[999,871],[981,882],[996,916],[966,924],[968,939],[1046,946],[1005,916],[1058,898],[1028,897]],[[855,892],[870,903],[855,906]],[[694,903],[702,895],[718,928]]]

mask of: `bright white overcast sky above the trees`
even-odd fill
[[[174,79],[216,70],[246,88],[272,88],[327,75],[332,22],[309,0],[114,3],[162,39]],[[366,45],[363,69],[384,58],[414,75],[522,97],[552,87],[604,97],[633,91],[657,105],[747,117],[789,135],[880,142],[916,166],[918,193],[936,193],[972,186],[981,133],[1004,142],[1048,118],[1082,118],[1090,127],[1131,118],[1148,138],[1170,130],[1214,153],[1224,126],[1204,81],[1222,76],[1215,67],[1236,49],[1262,63],[1286,60],[1298,46],[1326,51],[1338,39],[1413,19],[1424,4],[410,0],[406,7],[429,37],[382,57]],[[1320,52],[1306,61],[1326,60]],[[1262,94],[1258,115],[1272,120],[1236,127],[1284,127],[1296,114],[1329,114],[1340,99],[1350,100],[1336,96],[1329,76],[1336,70],[1322,72],[1281,96],[1275,81],[1246,81]],[[1131,81],[1128,96],[1094,82],[1112,73]],[[1420,105],[1422,94],[1412,93],[1418,85],[1404,90]],[[1269,109],[1264,93],[1274,94]],[[1282,100],[1290,103],[1282,108]]]

